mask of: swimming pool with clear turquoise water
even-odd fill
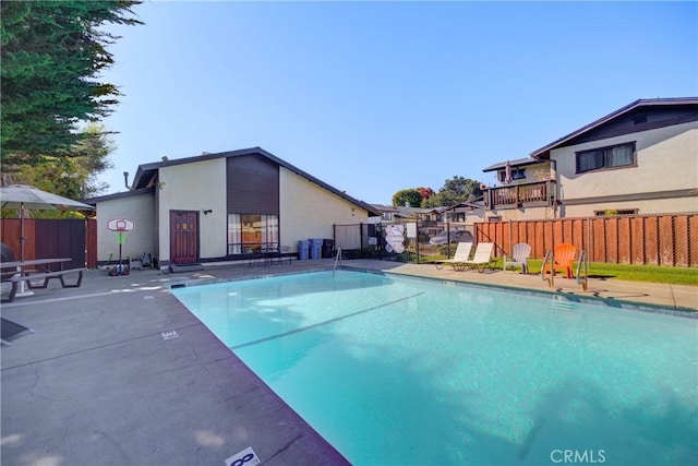
[[[172,292],[354,465],[698,454],[694,319],[350,271]]]

